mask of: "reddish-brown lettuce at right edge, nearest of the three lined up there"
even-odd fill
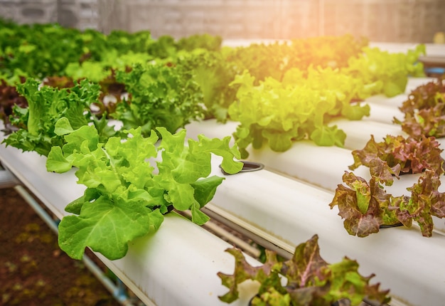
[[[382,179],[373,175],[369,183],[353,173],[343,175],[347,186],[338,185],[330,206],[331,209],[338,206],[338,215],[345,219],[346,231],[365,237],[377,233],[380,226],[402,223],[411,227],[412,221],[416,221],[422,236],[430,237],[434,228],[432,216],[445,217],[445,193],[438,191],[439,176],[432,170],[423,172],[419,181],[407,188],[410,196],[387,194],[379,181]]]

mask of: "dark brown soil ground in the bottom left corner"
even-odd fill
[[[0,305],[119,303],[82,261],[60,250],[56,234],[8,188],[0,189]]]

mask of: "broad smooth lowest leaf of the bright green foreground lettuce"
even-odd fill
[[[59,246],[75,259],[82,258],[87,246],[110,260],[119,259],[127,253],[129,241],[146,235],[150,226],[159,227],[159,214],[159,210],[151,211],[141,201],[101,196],[83,204],[79,216],[63,218]]]

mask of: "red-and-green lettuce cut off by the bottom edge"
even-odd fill
[[[340,263],[326,263],[320,255],[317,235],[296,246],[290,260],[279,261],[276,253],[267,250],[266,263],[257,267],[247,263],[240,250],[226,251],[235,257],[235,271],[232,275],[218,273],[223,285],[229,288],[219,297],[223,302],[237,300],[238,285],[245,280],[260,283],[252,305],[332,305],[344,299],[350,305],[360,305],[365,298],[380,304],[390,301],[389,290],[379,290],[378,283],[370,285],[374,275],[360,275],[355,260],[343,258]]]

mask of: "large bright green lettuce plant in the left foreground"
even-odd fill
[[[162,215],[171,208],[190,209],[193,222],[205,223],[208,216],[200,209],[223,181],[209,176],[211,154],[223,157],[225,172],[242,169],[234,160],[240,153],[229,147],[230,137],[200,135],[186,146],[186,130],[171,134],[159,127],[150,137],[141,130],[125,130],[125,137],[102,143],[94,125],[74,130],[68,119],[58,120],[55,131],[65,144],[51,149],[47,169],[67,172],[76,167],[77,183],[87,186],[85,194],[66,208],[74,214],[59,226],[60,248],[72,258],[80,259],[87,246],[107,258],[122,258],[128,242],[159,228]],[[153,159],[159,155],[155,169]]]

